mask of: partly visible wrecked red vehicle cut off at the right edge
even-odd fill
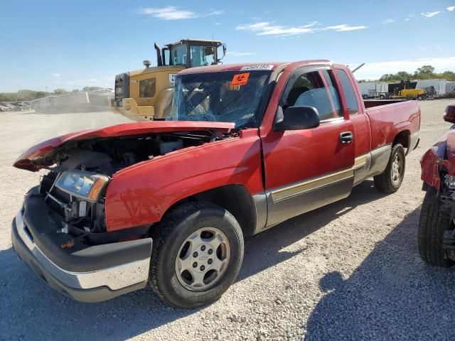
[[[447,107],[444,121],[455,124],[455,105]],[[420,161],[424,197],[419,219],[419,254],[434,266],[455,264],[455,125]]]

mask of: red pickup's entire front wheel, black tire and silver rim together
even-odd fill
[[[180,308],[212,303],[243,260],[242,229],[230,212],[204,202],[177,207],[154,227],[149,283]]]

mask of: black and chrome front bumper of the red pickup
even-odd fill
[[[107,301],[146,286],[150,238],[91,247],[76,245],[75,251],[61,249],[58,244],[53,245],[54,252],[50,253],[49,229],[36,226],[33,216],[27,215],[28,209],[33,212],[33,200],[36,197],[28,195],[28,207],[24,202],[24,209],[13,220],[11,240],[19,258],[49,286],[76,301],[90,303]],[[42,222],[40,217],[37,221]],[[53,237],[58,235],[53,231]]]

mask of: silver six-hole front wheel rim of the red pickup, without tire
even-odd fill
[[[214,286],[228,269],[228,237],[216,227],[203,227],[181,244],[176,258],[176,275],[182,286],[204,291]]]

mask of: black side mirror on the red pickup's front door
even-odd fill
[[[288,107],[284,114],[281,107],[278,110],[274,131],[311,129],[321,122],[315,107]]]

